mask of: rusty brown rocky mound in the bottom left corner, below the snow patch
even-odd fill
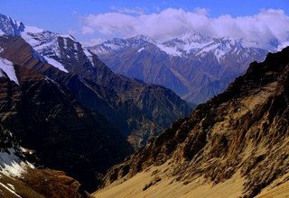
[[[90,197],[79,182],[61,171],[32,169],[22,178],[0,175],[0,197]]]

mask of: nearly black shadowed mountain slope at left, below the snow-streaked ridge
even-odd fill
[[[8,66],[17,84],[0,78],[1,124],[25,148],[35,150],[43,166],[64,170],[85,189],[95,189],[100,174],[130,154],[131,145],[102,115],[83,108],[65,86],[32,68]]]

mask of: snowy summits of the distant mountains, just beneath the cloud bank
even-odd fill
[[[280,44],[278,40],[271,40],[270,46],[274,45],[274,51]],[[109,55],[111,53],[121,53],[126,49],[134,49],[137,52],[144,51],[148,45],[154,45],[157,49],[163,51],[165,54],[172,57],[181,58],[203,58],[207,55],[212,55],[214,61],[220,62],[225,56],[232,54],[239,54],[243,49],[264,49],[258,43],[254,45],[247,45],[247,40],[232,39],[229,37],[211,37],[209,35],[200,33],[198,31],[190,30],[179,37],[172,40],[157,43],[149,37],[144,35],[136,35],[135,37],[125,39],[107,40],[101,44],[89,47],[94,53],[98,55]],[[245,55],[244,55],[245,56]]]

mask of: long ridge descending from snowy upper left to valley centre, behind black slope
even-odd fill
[[[191,111],[163,86],[116,75],[70,35],[24,26],[5,15],[0,18],[3,57],[65,85],[82,105],[103,114],[135,148]],[[17,50],[22,50],[22,56],[15,56]]]

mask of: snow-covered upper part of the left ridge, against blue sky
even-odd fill
[[[70,34],[59,34],[26,26],[4,14],[0,14],[0,35],[22,37],[33,47],[35,56],[64,72],[69,70],[63,61],[76,61],[82,58],[83,54],[86,56],[85,51],[81,52],[82,47],[79,42]],[[64,53],[64,49],[65,51],[68,49],[70,55]]]

